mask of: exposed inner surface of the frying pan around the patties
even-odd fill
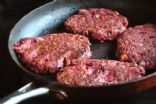
[[[63,22],[79,8],[110,8],[128,17],[129,26],[156,23],[156,8],[148,0],[54,0],[30,12],[13,28],[9,38],[9,51],[13,60],[29,74],[51,80],[51,75],[30,72],[19,62],[13,44],[25,37],[37,37],[49,33],[66,32]],[[154,1],[154,0],[153,0]],[[115,59],[114,42],[91,42],[93,58]]]

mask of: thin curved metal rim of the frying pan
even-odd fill
[[[20,65],[19,63],[16,62],[15,58],[13,58],[12,56],[12,49],[11,49],[11,45],[13,44],[9,44],[10,43],[10,39],[12,37],[11,34],[13,34],[14,30],[16,29],[17,25],[22,23],[22,21],[25,19],[25,17],[29,16],[30,14],[33,14],[36,10],[40,10],[48,5],[53,5],[56,1],[61,1],[61,0],[53,0],[49,3],[46,3],[42,6],[39,6],[37,7],[36,9],[33,9],[32,11],[30,11],[29,13],[25,14],[15,25],[14,27],[11,29],[11,32],[10,32],[10,35],[9,35],[9,39],[8,39],[8,49],[9,49],[9,54],[12,58],[12,60],[14,61],[14,63],[20,68],[22,69],[23,71],[25,71],[25,73],[31,75],[32,77],[35,77],[35,78],[38,78],[38,79],[41,79],[42,81],[45,81],[45,82],[48,82],[48,83],[53,83],[54,85],[60,85],[62,87],[71,87],[71,88],[98,88],[98,87],[113,87],[113,86],[120,86],[120,85],[126,85],[126,84],[131,84],[131,83],[137,83],[139,81],[143,81],[145,79],[148,79],[150,77],[153,77],[153,76],[156,76],[156,72],[152,73],[152,74],[149,74],[149,75],[145,75],[139,79],[134,79],[134,80],[130,80],[130,81],[123,81],[123,82],[118,82],[116,84],[108,84],[108,85],[95,85],[95,86],[72,86],[72,85],[67,85],[67,84],[64,84],[64,83],[60,83],[58,81],[51,81],[50,79],[48,78],[45,78],[44,76],[41,76],[37,73],[34,73],[34,72],[31,72],[31,71],[28,71],[27,68],[23,67],[22,65]],[[56,82],[56,83],[55,83]]]

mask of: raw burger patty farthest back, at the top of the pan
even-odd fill
[[[64,23],[67,30],[101,42],[113,40],[126,30],[128,20],[117,11],[104,8],[80,9]]]

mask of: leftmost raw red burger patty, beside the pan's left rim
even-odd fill
[[[14,44],[14,50],[20,60],[36,73],[52,73],[72,59],[90,58],[89,45],[85,36],[58,33],[21,39]]]

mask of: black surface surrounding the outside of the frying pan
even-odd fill
[[[22,4],[22,6],[17,2],[16,5],[11,5],[5,4],[5,2],[0,1],[0,98],[3,98],[9,93],[17,90],[26,83],[23,81],[23,73],[18,70],[17,66],[9,55],[7,42],[10,30],[13,28],[16,22],[20,20],[21,17],[23,17],[26,13],[33,10],[34,8],[43,5],[51,0],[39,1],[40,2],[29,2],[29,4],[27,3],[25,4],[25,6],[24,3]],[[51,103],[57,104],[62,102],[54,101],[51,96],[46,95],[28,99],[21,104]],[[144,91],[127,99],[107,102],[107,104],[156,104],[156,88]]]

